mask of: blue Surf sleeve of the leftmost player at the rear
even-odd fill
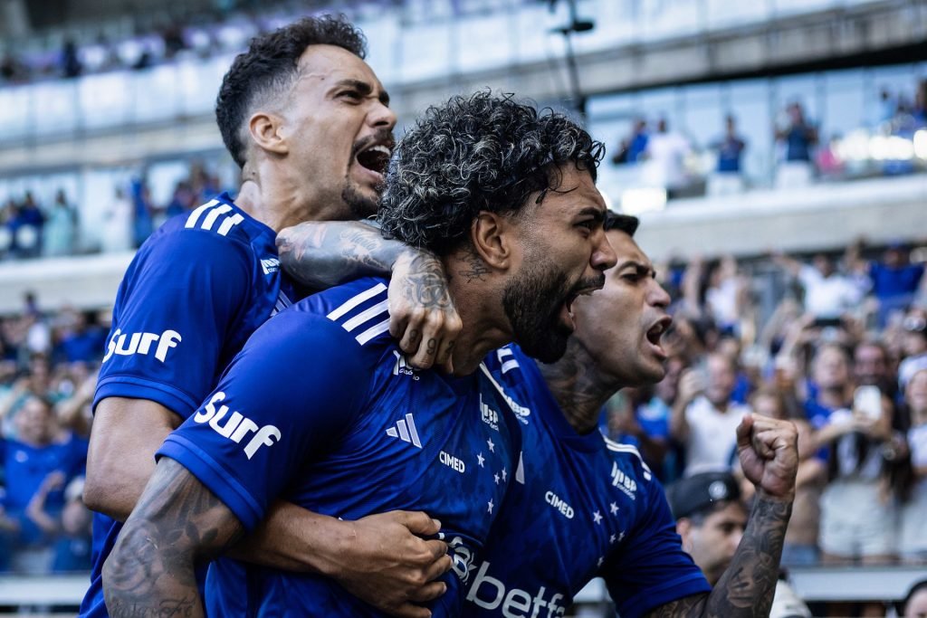
[[[188,417],[248,310],[252,260],[247,245],[209,231],[165,233],[144,246],[120,285],[94,407],[133,397]]]

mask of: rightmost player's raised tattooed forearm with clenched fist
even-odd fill
[[[649,616],[769,615],[792,515],[798,434],[792,423],[748,414],[737,428],[737,451],[756,485],[756,504],[730,566],[710,594],[677,599]]]

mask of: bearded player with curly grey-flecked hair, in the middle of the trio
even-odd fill
[[[387,334],[382,279],[264,323],[160,448],[104,567],[113,615],[202,615],[195,562],[222,554],[280,497],[346,520],[395,509],[438,518],[453,570],[427,610],[456,615],[517,464],[517,422],[481,359],[513,339],[540,359],[563,354],[574,300],[615,263],[594,185],[601,154],[565,116],[510,97],[429,109],[398,146],[379,219],[451,272],[464,322],[454,374],[408,366]],[[380,615],[330,578],[228,558],[211,562],[206,597],[219,616],[241,604],[257,615]]]

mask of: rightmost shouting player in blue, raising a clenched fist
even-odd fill
[[[794,498],[794,425],[747,416],[737,428],[757,500],[713,590],[682,551],[667,499],[640,454],[597,430],[618,389],[664,375],[659,340],[670,323],[669,296],[631,237],[637,224],[609,215],[617,264],[602,291],[576,303],[578,329],[562,359],[538,364],[527,350],[504,347],[491,363],[514,399],[525,446],[483,560],[473,565],[464,615],[564,615],[595,576],[622,618],[768,612]]]

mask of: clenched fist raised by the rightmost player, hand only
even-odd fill
[[[737,427],[743,475],[768,498],[791,501],[798,472],[798,431],[793,423],[747,414]]]

